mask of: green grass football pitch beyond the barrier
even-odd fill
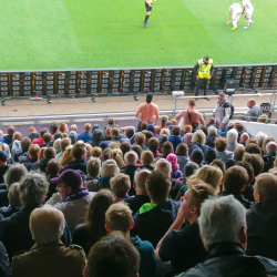
[[[148,28],[143,0],[1,1],[0,71],[277,63],[277,0],[232,32],[233,1],[157,0]]]

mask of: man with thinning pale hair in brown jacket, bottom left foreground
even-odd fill
[[[16,254],[11,275],[21,276],[82,276],[85,255],[80,246],[65,246],[60,238],[64,216],[58,209],[45,206],[35,208],[30,216],[30,230],[35,240],[30,252]],[[34,263],[35,260],[35,263]]]

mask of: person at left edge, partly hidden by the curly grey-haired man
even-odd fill
[[[12,214],[17,213],[22,206],[20,202],[20,184],[19,183],[13,183],[10,185],[9,192],[8,192],[8,198],[9,198],[9,206],[0,208],[0,214],[3,217],[11,216]]]

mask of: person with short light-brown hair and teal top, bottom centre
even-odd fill
[[[130,237],[130,229],[134,226],[132,219],[132,211],[124,203],[113,204],[105,213],[105,229],[110,232],[120,230],[130,238],[133,246],[140,253],[140,270],[141,277],[152,277],[156,269],[156,258],[154,248],[150,242],[142,240],[138,236]]]

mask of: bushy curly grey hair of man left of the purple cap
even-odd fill
[[[29,172],[20,182],[20,199],[22,205],[41,204],[48,192],[49,183],[44,174]]]

